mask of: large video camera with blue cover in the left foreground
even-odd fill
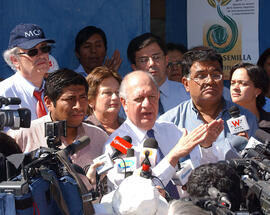
[[[93,214],[91,201],[95,195],[87,189],[69,159],[88,145],[90,138],[84,136],[60,149],[61,137],[66,136],[65,121],[46,123],[45,136],[48,147],[7,157],[8,162],[20,168],[21,174],[1,182],[0,193],[13,196],[16,210],[38,207],[40,214]],[[6,169],[8,176],[8,167]],[[0,214],[2,212],[0,209]]]

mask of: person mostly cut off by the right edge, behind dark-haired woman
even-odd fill
[[[265,49],[264,52],[260,55],[257,65],[264,69],[268,79],[270,80],[270,48]],[[266,104],[263,109],[270,112],[270,87],[265,94]]]

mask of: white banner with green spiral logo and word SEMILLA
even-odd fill
[[[228,79],[234,64],[258,60],[258,11],[258,0],[187,0],[188,48],[216,49]]]

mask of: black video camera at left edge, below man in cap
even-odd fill
[[[0,108],[3,105],[19,105],[21,104],[20,98],[5,98],[0,96]],[[31,111],[27,108],[19,108],[17,110],[2,110],[0,109],[0,130],[4,127],[12,129],[29,128],[31,124]]]

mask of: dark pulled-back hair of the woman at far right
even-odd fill
[[[247,71],[248,77],[254,84],[254,87],[261,89],[262,93],[256,98],[256,106],[258,109],[262,109],[265,105],[265,94],[269,87],[269,78],[263,68],[251,64],[251,63],[238,63],[235,64],[230,71],[230,81],[235,70],[244,68]]]

